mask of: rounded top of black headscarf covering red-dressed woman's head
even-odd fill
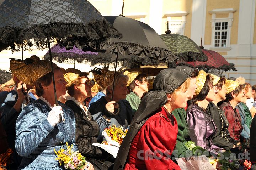
[[[163,90],[165,93],[172,93],[175,89],[180,87],[187,78],[188,77],[179,70],[167,68],[161,70],[158,75],[156,75],[153,82],[153,89]]]

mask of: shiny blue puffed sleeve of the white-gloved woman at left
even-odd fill
[[[16,121],[17,153],[23,157],[30,155],[53,129],[41,110],[32,105],[26,106]]]

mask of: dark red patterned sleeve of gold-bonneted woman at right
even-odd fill
[[[230,106],[224,106],[222,107],[223,112],[225,113],[226,118],[228,119],[229,122],[229,127],[228,127],[228,131],[229,131],[229,135],[230,137],[234,138],[235,135],[235,113],[233,108],[231,108]]]

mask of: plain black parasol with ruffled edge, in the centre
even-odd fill
[[[159,61],[171,62],[178,58],[168,49],[155,30],[147,24],[124,16],[105,16],[105,18],[122,33],[123,38],[111,38],[101,42],[95,49],[105,50],[105,53],[114,55],[109,58],[92,56],[91,61],[98,61],[98,63],[115,61],[116,71],[118,61],[155,65]],[[114,75],[114,82],[115,77]]]

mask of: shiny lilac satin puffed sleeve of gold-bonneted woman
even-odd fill
[[[207,122],[204,114],[198,109],[191,108],[187,111],[187,122],[190,130],[190,139],[195,142],[197,146],[206,148],[206,128]]]

